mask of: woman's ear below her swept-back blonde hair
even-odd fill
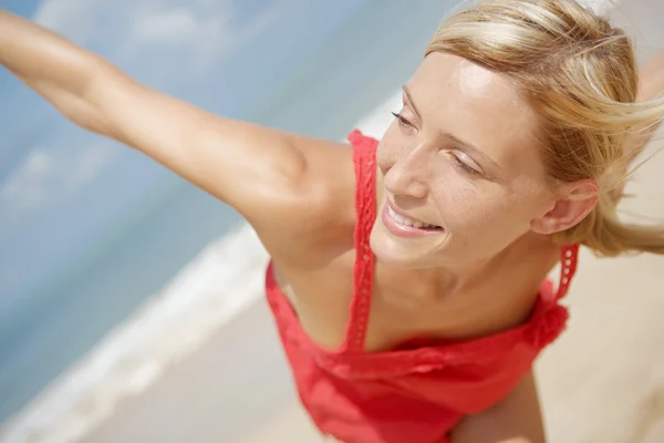
[[[594,209],[599,193],[600,186],[590,178],[560,185],[553,209],[530,222],[530,228],[549,235],[578,225]]]

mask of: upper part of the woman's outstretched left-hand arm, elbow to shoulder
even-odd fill
[[[298,229],[293,224],[333,190],[338,143],[211,114],[113,66],[102,69],[87,94],[98,115],[83,126],[148,155],[255,227]]]

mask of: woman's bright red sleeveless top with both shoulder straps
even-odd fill
[[[302,330],[280,290],[270,262],[266,287],[279,334],[304,408],[318,427],[345,443],[440,443],[467,414],[504,399],[533,360],[564,329],[558,303],[577,268],[578,245],[562,248],[558,291],[547,280],[530,320],[518,328],[466,341],[415,349],[364,351],[374,256],[369,236],[375,210],[377,141],[349,135],[355,164],[354,290],[344,341],[338,350],[317,346]]]

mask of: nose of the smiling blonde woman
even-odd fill
[[[404,151],[383,167],[385,188],[394,196],[425,198],[428,193],[426,178],[429,163],[423,150]]]

